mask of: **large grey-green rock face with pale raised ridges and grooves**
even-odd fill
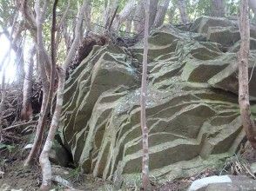
[[[219,33],[226,25],[218,22],[213,26],[220,30],[212,31]],[[200,30],[193,26],[194,31],[205,31],[196,23]],[[165,26],[149,39],[149,168],[159,180],[216,167],[244,138],[236,54],[222,52],[215,38],[199,41],[206,37]],[[117,183],[134,182],[141,172],[142,52],[142,43],[130,49],[95,46],[66,82],[60,123],[64,146],[84,172]],[[255,56],[252,50],[251,70]],[[253,71],[252,99],[256,97],[255,77]]]

